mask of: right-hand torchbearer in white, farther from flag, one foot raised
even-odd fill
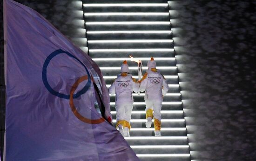
[[[148,71],[146,71],[142,79],[138,82],[141,83],[140,91],[145,91],[146,127],[151,127],[154,115],[155,136],[161,136],[162,101],[163,96],[166,95],[169,88],[166,79],[161,72],[156,69],[154,58],[151,58],[150,61],[148,61]]]

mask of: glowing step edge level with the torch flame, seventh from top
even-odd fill
[[[131,61],[131,58],[92,58],[95,62],[97,61],[123,61],[123,60],[127,60],[127,61]],[[135,58],[135,59],[138,59],[138,60],[150,60],[150,58],[148,57],[144,57],[144,58]],[[176,58],[168,58],[168,57],[164,57],[164,58],[157,58],[155,57],[154,58],[155,61],[158,61],[158,60],[176,60]],[[157,67],[158,68],[158,67]]]

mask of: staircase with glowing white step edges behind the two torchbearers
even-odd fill
[[[130,137],[125,139],[141,161],[189,161],[189,144],[182,109],[179,77],[168,3],[166,0],[83,0],[88,53],[100,66],[109,87],[120,73],[123,60],[138,78],[140,59],[143,73],[154,57],[157,69],[167,79],[169,91],[162,103],[162,137],[145,127],[144,93],[134,95]],[[110,97],[113,122],[116,123],[115,96]]]

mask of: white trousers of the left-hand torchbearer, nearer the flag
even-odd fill
[[[133,103],[118,103],[115,104],[116,121],[125,120],[130,122],[133,110]]]

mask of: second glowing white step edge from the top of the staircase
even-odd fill
[[[169,16],[169,13],[159,12],[102,12],[102,13],[84,13],[85,16]]]

